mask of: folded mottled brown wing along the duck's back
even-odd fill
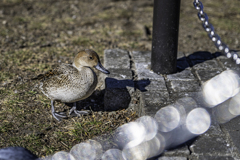
[[[77,69],[74,68],[70,64],[61,64],[59,67],[49,70],[48,72],[44,74],[40,74],[37,77],[32,78],[32,80],[40,80],[45,81],[51,78],[60,78],[69,76],[71,74],[74,74],[74,72],[77,72]]]

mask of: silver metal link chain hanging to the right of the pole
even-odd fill
[[[214,31],[213,25],[208,21],[208,15],[203,11],[203,4],[199,0],[194,0],[194,7],[198,10],[198,18],[202,21],[202,26],[208,33],[209,38],[214,42],[217,49],[224,53],[228,58],[233,58],[236,64],[240,64],[237,52],[230,51],[228,46],[223,43],[218,34]]]

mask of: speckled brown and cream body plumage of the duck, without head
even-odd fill
[[[79,71],[69,64],[62,64],[35,79],[40,80],[40,89],[47,97],[62,102],[87,98],[97,84],[97,77],[92,69],[83,67]]]

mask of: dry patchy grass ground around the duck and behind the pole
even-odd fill
[[[193,0],[182,0],[179,51],[216,52],[203,31]],[[240,50],[240,1],[202,0],[222,40]],[[104,91],[79,102],[88,116],[52,118],[50,100],[30,79],[76,53],[104,49],[151,50],[153,0],[1,0],[0,1],[0,148],[23,146],[38,156],[69,150],[84,140],[111,134],[137,118],[134,111],[106,112]],[[150,34],[149,32],[150,31]],[[70,105],[56,104],[68,112]]]

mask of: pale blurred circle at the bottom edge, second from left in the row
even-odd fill
[[[76,160],[94,160],[96,158],[96,150],[89,143],[76,144],[70,153]]]

